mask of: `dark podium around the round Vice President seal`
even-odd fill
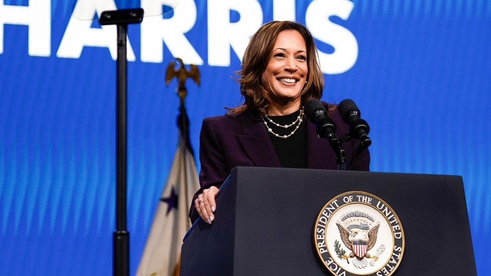
[[[460,176],[258,167],[231,171],[213,223],[198,219],[185,237],[181,275],[333,275],[314,224],[350,191],[383,199],[399,217],[405,248],[392,275],[477,275]]]

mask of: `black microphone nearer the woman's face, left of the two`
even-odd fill
[[[327,138],[333,148],[339,148],[339,141],[335,134],[336,124],[327,116],[327,110],[319,100],[310,99],[305,103],[305,115],[314,123],[320,137]]]

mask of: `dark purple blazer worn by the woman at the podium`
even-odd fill
[[[335,110],[329,116],[337,126],[336,136],[341,138],[348,133],[339,112]],[[315,125],[307,124],[307,168],[337,170],[336,153],[326,138],[318,138]],[[352,153],[359,141],[352,139],[345,142],[346,164],[348,170],[368,171],[370,154],[364,150],[354,160]],[[191,203],[189,217],[191,221],[198,218],[194,201],[204,189],[220,186],[237,166],[246,167],[281,167],[275,149],[262,120],[253,119],[248,112],[232,116],[216,116],[203,120],[200,134],[200,185]]]

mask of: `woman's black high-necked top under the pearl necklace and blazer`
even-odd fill
[[[290,125],[299,115],[300,110],[288,115],[268,117],[273,122],[280,125]],[[307,121],[305,117],[302,117],[301,119],[302,123],[298,130],[286,139],[276,137],[270,132],[268,133],[282,168],[307,168]],[[291,134],[291,132],[295,130],[295,127],[298,126],[297,122],[293,126],[285,129],[271,123],[267,118],[264,118],[264,120],[266,120],[268,127],[271,128],[274,133],[281,136]]]

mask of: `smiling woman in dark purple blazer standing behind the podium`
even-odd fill
[[[206,118],[200,135],[200,184],[190,210],[192,221],[215,219],[218,187],[237,166],[337,169],[327,139],[307,122],[303,104],[320,99],[324,86],[310,32],[291,21],[264,24],[251,38],[238,72],[244,104],[224,116]],[[327,105],[327,104],[326,104]],[[335,105],[327,105],[338,137],[347,133]],[[346,142],[348,169],[369,168],[367,150],[351,160],[356,141]]]

